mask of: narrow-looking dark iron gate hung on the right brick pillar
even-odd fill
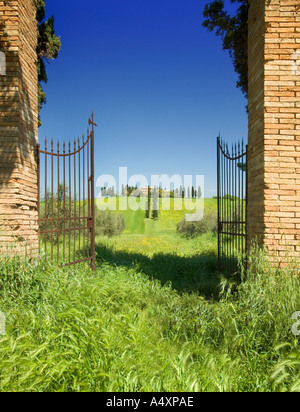
[[[239,270],[247,243],[247,146],[217,139],[218,268],[226,274]]]

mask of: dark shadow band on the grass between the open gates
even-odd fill
[[[148,257],[139,253],[115,251],[101,243],[96,245],[98,263],[136,269],[162,285],[171,283],[179,293],[197,293],[206,298],[218,298],[220,277],[215,254],[182,257],[158,253]]]

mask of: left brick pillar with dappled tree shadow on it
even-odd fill
[[[0,1],[0,246],[22,251],[38,248],[35,15],[34,0]]]

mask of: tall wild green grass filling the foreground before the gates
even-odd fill
[[[299,277],[256,254],[240,284],[220,282],[206,300],[138,267],[1,257],[0,390],[300,391]]]

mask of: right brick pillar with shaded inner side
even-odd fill
[[[249,240],[300,256],[300,4],[249,3]]]

